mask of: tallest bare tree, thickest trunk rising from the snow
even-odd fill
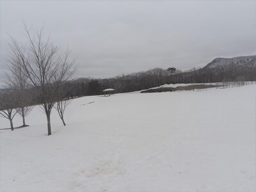
[[[28,78],[28,83],[36,90],[36,99],[41,104],[47,118],[47,131],[51,135],[51,111],[58,100],[60,84],[68,81],[76,71],[76,60],[69,61],[70,52],[58,54],[59,48],[44,40],[43,29],[38,31],[25,26],[28,44],[22,48],[12,39],[10,48],[22,62],[21,72]],[[24,51],[23,51],[24,50]]]

